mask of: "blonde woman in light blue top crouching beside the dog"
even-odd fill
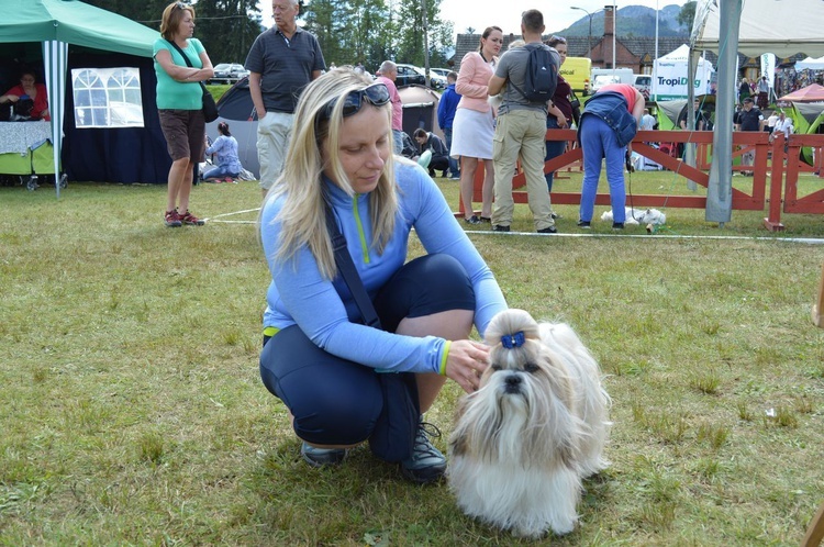
[[[506,303],[433,180],[392,155],[382,83],[347,68],[298,102],[282,175],[260,212],[271,272],[260,375],[289,410],[311,466],[368,442],[415,482],[446,469],[421,414],[446,379],[478,389],[483,333]],[[335,264],[327,208],[380,317],[361,314]],[[407,261],[414,228],[425,254]]]

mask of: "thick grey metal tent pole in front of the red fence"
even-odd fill
[[[719,93],[715,98],[715,134],[706,189],[704,220],[720,227],[732,219],[733,209],[733,112],[735,111],[735,67],[738,60],[738,31],[743,0],[719,2],[725,41],[719,45]],[[694,46],[694,43],[693,43]]]

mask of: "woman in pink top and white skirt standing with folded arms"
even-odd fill
[[[453,122],[452,156],[460,157],[460,199],[464,202],[464,220],[469,224],[489,222],[492,216],[492,138],[494,137],[494,113],[487,102],[489,79],[498,63],[498,53],[503,45],[503,31],[488,26],[481,35],[477,52],[469,52],[460,62],[455,91],[460,93],[458,110]],[[481,217],[472,209],[472,188],[478,160],[483,160],[483,205]]]

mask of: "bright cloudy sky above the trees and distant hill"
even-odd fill
[[[310,0],[311,1],[311,0]],[[405,0],[409,1],[409,0]],[[664,9],[666,5],[683,5],[686,0],[628,0],[627,3],[615,3],[616,9],[626,5],[646,5],[653,9]],[[264,24],[272,25],[271,20],[271,1],[261,0],[259,2],[264,14]],[[505,9],[503,7],[505,5]],[[505,34],[521,33],[521,13],[542,7],[546,10],[548,2],[536,2],[535,0],[442,0],[441,15],[455,24],[455,32],[463,33],[471,26],[476,32],[481,32],[489,25],[498,25],[503,29]],[[544,11],[547,31],[559,31],[571,25],[587,14],[580,10],[572,10],[576,5],[595,14],[604,5],[612,5],[603,0],[561,0],[554,2],[552,10]],[[597,29],[592,29],[593,35],[601,35]]]

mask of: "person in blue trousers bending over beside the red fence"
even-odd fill
[[[626,220],[626,189],[624,158],[632,152],[644,115],[646,103],[641,91],[628,83],[601,87],[588,101],[578,127],[578,141],[583,153],[583,183],[578,226],[589,228],[595,209],[601,160],[606,160],[606,181],[610,185],[612,227],[623,230]]]

